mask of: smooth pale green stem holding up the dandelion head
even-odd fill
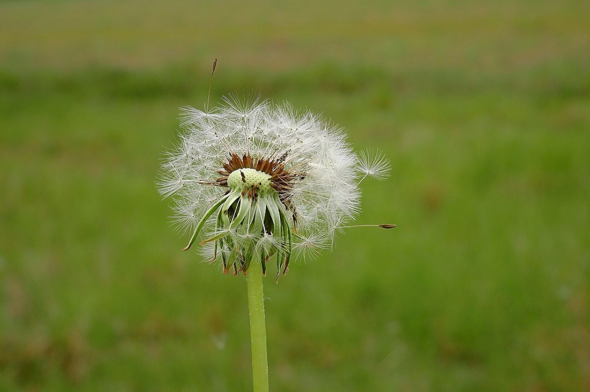
[[[264,295],[262,291],[262,264],[257,260],[248,268],[246,281],[248,286],[248,309],[250,309],[250,339],[252,342],[254,392],[268,392],[268,359],[266,354]]]

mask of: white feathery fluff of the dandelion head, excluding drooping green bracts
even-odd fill
[[[358,214],[359,179],[380,179],[389,170],[381,154],[359,156],[342,129],[309,111],[296,111],[289,104],[244,103],[230,97],[211,113],[183,108],[181,126],[180,143],[166,154],[159,182],[160,193],[173,197],[179,225],[194,228],[229,189],[256,186],[255,197],[265,199],[276,194],[269,174],[248,168],[235,170],[227,177],[227,186],[219,186],[219,171],[231,154],[278,162],[293,175],[280,202],[289,211],[293,251],[302,256],[330,248],[335,230]],[[204,238],[217,234],[216,219],[216,214],[207,218],[201,231]],[[273,233],[264,230],[255,236],[241,236],[247,236],[247,241],[254,239],[255,251],[281,246]],[[214,246],[208,244],[204,251],[212,256]]]

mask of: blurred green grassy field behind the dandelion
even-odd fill
[[[391,159],[266,278],[274,391],[590,390],[590,2],[0,2],[0,390],[248,391],[242,277],[156,193],[237,91]]]

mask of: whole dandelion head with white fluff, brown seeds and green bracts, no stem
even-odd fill
[[[202,252],[225,274],[246,275],[260,261],[266,275],[274,258],[278,279],[294,257],[330,248],[359,212],[360,181],[389,172],[382,154],[359,156],[342,129],[289,104],[230,97],[212,111],[183,111],[160,193],[193,230],[185,250],[201,235]]]

